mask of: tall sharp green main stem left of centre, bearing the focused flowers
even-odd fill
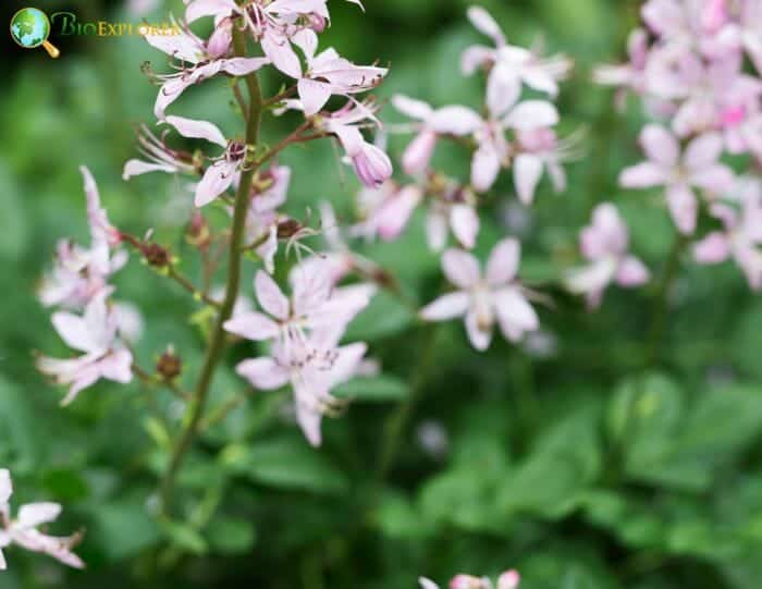
[[[237,57],[246,56],[246,39],[243,32],[233,27],[233,45]],[[259,143],[259,125],[262,115],[262,94],[259,87],[259,79],[255,73],[245,78],[249,93],[249,108],[246,118],[246,145],[256,146]],[[241,283],[241,245],[244,240],[246,229],[246,216],[250,203],[251,181],[256,171],[255,165],[247,167],[241,174],[241,184],[235,195],[235,208],[233,212],[233,228],[231,230],[229,259],[228,259],[228,281],[225,285],[225,297],[217,317],[217,323],[211,333],[211,339],[207,347],[204,366],[201,368],[193,402],[189,404],[186,414],[186,427],[183,431],[174,452],[170,458],[170,464],[161,483],[161,513],[169,515],[171,511],[172,491],[180,467],[187,454],[194,439],[198,432],[204,410],[209,396],[217,365],[222,356],[225,345],[224,323],[233,314],[233,308],[238,296]]]

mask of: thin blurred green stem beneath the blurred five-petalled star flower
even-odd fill
[[[400,406],[386,421],[384,428],[381,458],[379,461],[377,473],[379,486],[384,481],[389,475],[389,471],[394,466],[394,462],[402,444],[405,427],[407,426],[407,422],[413,415],[413,410],[423,392],[423,384],[426,382],[431,363],[433,361],[435,341],[437,324],[429,323],[426,326],[423,333],[423,345],[421,346],[420,361],[418,363],[413,375],[410,395],[400,404]]]

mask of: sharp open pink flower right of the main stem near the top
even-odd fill
[[[381,84],[389,70],[369,65],[358,66],[329,48],[316,54],[318,36],[303,28],[293,37],[305,54],[307,70],[298,78],[297,90],[305,115],[317,114],[331,96],[359,94]]]

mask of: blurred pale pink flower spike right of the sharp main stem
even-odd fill
[[[516,240],[504,240],[494,247],[483,278],[479,261],[466,251],[476,247],[479,237],[479,197],[508,168],[513,169],[516,192],[525,205],[532,203],[545,170],[555,189],[565,189],[561,163],[572,157],[574,142],[558,140],[554,128],[558,111],[549,99],[557,96],[557,83],[568,74],[572,62],[564,56],[543,58],[508,45],[497,23],[482,8],[471,7],[468,17],[494,44],[469,47],[462,59],[465,75],[479,69],[487,74],[486,114],[466,106],[434,108],[407,96],[394,96],[394,108],[414,120],[397,126],[416,134],[402,156],[403,169],[413,182],[400,185],[390,181],[364,189],[358,197],[360,220],[353,233],[395,240],[415,210],[425,205],[430,248],[444,250],[451,233],[459,248],[447,249],[442,256],[444,273],[457,291],[431,303],[420,315],[429,321],[464,316],[471,344],[484,351],[495,321],[506,339],[518,342],[539,329],[539,320],[527,299],[532,293],[516,279],[520,261]],[[525,86],[549,99],[523,99]],[[470,149],[469,181],[458,181],[432,168],[437,144],[442,139]]]

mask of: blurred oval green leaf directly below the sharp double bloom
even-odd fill
[[[302,439],[260,440],[250,446],[230,445],[222,464],[253,481],[297,491],[344,494],[349,488],[346,475],[325,454]]]

